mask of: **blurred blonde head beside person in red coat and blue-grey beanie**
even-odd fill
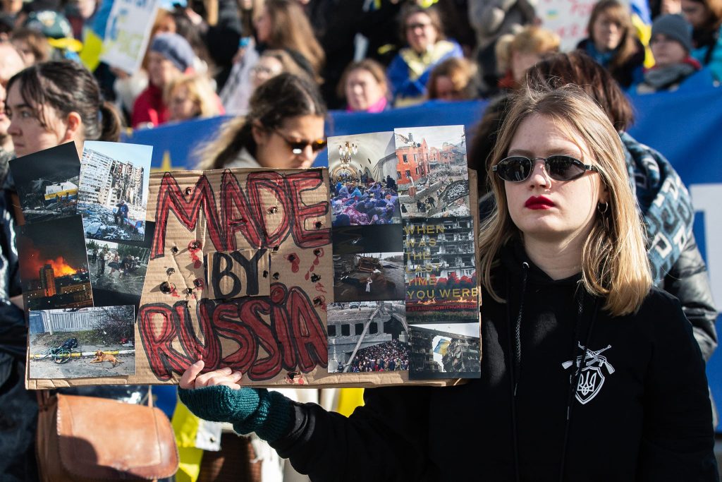
[[[187,121],[197,117],[214,117],[223,113],[216,92],[205,75],[183,75],[174,79],[163,92],[170,121]]]

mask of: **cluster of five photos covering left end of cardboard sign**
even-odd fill
[[[25,218],[17,244],[38,357],[32,378],[135,373],[134,317],[154,227],[145,222],[151,154],[86,142],[81,162],[69,142],[11,161]]]

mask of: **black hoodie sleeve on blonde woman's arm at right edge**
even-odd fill
[[[655,301],[638,481],[717,482],[705,363],[679,301]]]

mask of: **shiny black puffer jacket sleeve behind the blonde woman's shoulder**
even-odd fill
[[[694,234],[687,240],[682,255],[664,277],[663,288],[682,303],[682,310],[692,323],[695,340],[700,345],[705,361],[709,361],[717,348],[717,307],[712,298],[707,266]]]

